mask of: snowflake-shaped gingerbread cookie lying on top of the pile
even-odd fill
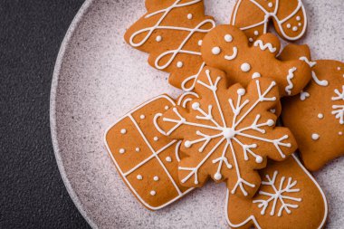
[[[270,79],[254,79],[246,89],[228,88],[225,72],[205,67],[196,81],[199,98],[158,113],[155,126],[172,139],[181,139],[178,166],[184,186],[203,186],[208,177],[227,182],[233,194],[253,196],[260,185],[255,169],[266,157],[283,160],[297,148],[289,129],[275,128],[272,113],[279,101]]]

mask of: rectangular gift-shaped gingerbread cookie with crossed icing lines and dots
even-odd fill
[[[149,100],[119,119],[105,134],[119,175],[150,210],[169,205],[192,189],[178,181],[177,140],[161,135],[153,126],[157,112],[175,105],[166,95]]]

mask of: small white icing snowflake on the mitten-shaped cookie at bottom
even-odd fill
[[[271,186],[272,192],[259,191],[259,195],[267,196],[268,199],[256,199],[253,200],[253,204],[258,204],[258,207],[261,208],[261,215],[265,215],[266,209],[272,204],[270,215],[275,215],[277,203],[280,202],[280,209],[278,209],[277,216],[281,217],[282,212],[285,211],[287,214],[291,214],[291,208],[298,208],[298,202],[301,202],[301,198],[296,198],[288,196],[289,193],[299,193],[300,188],[295,188],[297,181],[292,181],[292,178],[288,178],[288,183],[285,187],[284,181],[286,177],[282,177],[280,184],[276,181],[278,171],[274,171],[272,178],[269,175],[266,175],[267,181],[262,181],[262,186]],[[292,182],[291,182],[292,181]],[[291,204],[292,203],[292,204]]]

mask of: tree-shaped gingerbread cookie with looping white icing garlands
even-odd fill
[[[149,53],[148,62],[170,72],[169,82],[192,91],[205,63],[200,47],[205,33],[215,27],[205,16],[203,0],[146,0],[148,13],[131,25],[125,40]]]

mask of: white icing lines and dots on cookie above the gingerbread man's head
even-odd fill
[[[282,33],[282,36],[288,40],[291,40],[291,41],[298,40],[306,32],[306,27],[307,27],[306,11],[304,9],[304,6],[302,5],[301,0],[298,0],[298,5],[296,6],[295,10],[293,10],[291,12],[291,14],[287,15],[284,18],[279,18],[277,16],[277,13],[279,11],[278,1],[276,2],[275,6],[274,6],[273,12],[267,11],[263,5],[260,5],[255,0],[250,0],[250,2],[253,3],[254,5],[256,5],[265,14],[265,16],[263,17],[263,21],[256,23],[256,24],[251,24],[248,26],[241,27],[240,28],[241,30],[243,30],[243,31],[249,30],[249,29],[253,29],[253,28],[256,28],[256,27],[263,25],[263,33],[267,33],[269,20],[270,20],[270,18],[273,18],[275,20],[275,22],[277,23],[277,26],[279,27],[279,30]],[[237,15],[237,12],[238,12],[241,4],[242,4],[242,0],[238,0],[238,3],[234,7],[234,11],[233,11],[234,13],[233,13],[232,22],[231,22],[231,24],[233,24],[233,25],[236,25],[235,24],[236,15]],[[301,33],[298,33],[296,36],[289,36],[285,33],[284,28],[283,28],[283,24],[287,23],[293,16],[295,16],[300,11],[300,9],[301,9],[302,14],[304,15],[304,18],[305,18]],[[289,25],[287,24],[287,28],[291,28],[291,26],[289,27]]]

